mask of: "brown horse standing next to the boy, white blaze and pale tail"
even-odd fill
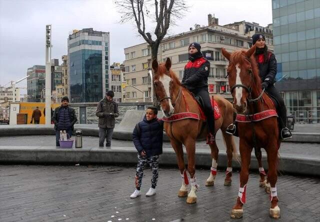
[[[155,94],[161,105],[164,117],[169,118],[172,117],[172,115],[174,116],[175,114],[181,113],[192,113],[195,114],[196,117],[200,116],[197,102],[187,89],[181,87],[180,81],[170,67],[170,59],[166,59],[165,64],[158,64],[156,60],[153,60],[152,62]],[[230,185],[232,175],[232,154],[235,154],[236,158],[238,155],[236,154],[234,140],[231,135],[225,133],[225,129],[233,121],[233,107],[229,101],[222,97],[214,96],[214,100],[220,109],[220,118],[215,120],[214,128],[215,132],[217,132],[218,129],[221,129],[222,131],[228,159],[228,168],[226,170],[224,185]],[[181,174],[182,186],[179,189],[178,196],[188,196],[186,202],[195,203],[195,193],[198,189],[198,185],[195,181],[195,140],[197,138],[205,138],[207,135],[207,128],[202,120],[186,117],[177,121],[164,122],[164,130],[170,138]],[[191,190],[189,193],[187,187],[189,182],[185,171],[182,144],[185,146],[188,159],[187,170],[190,174],[191,181]],[[212,165],[210,175],[205,182],[205,185],[207,186],[214,184],[218,158],[218,148],[216,144],[214,143],[209,146],[211,149]]]

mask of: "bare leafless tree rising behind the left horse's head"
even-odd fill
[[[166,35],[170,25],[177,19],[181,19],[183,13],[187,11],[184,0],[119,0],[115,1],[118,12],[122,15],[120,23],[134,21],[138,33],[151,48],[151,61],[157,58],[158,47]],[[154,10],[150,13],[150,10]],[[155,23],[154,35],[152,39],[146,25]]]

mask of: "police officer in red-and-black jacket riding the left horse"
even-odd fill
[[[207,144],[213,144],[215,141],[214,118],[208,93],[210,63],[202,56],[200,49],[201,46],[198,43],[191,43],[189,45],[189,62],[184,67],[184,75],[181,84],[194,95],[201,97],[204,104],[203,111],[207,119],[209,132]]]

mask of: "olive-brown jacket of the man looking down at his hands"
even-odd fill
[[[113,115],[109,115],[110,113]],[[98,102],[95,115],[99,117],[98,127],[114,128],[115,118],[119,116],[118,104],[114,101],[109,102],[104,98]]]

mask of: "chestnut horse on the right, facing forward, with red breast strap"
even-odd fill
[[[246,52],[236,51],[232,54],[222,49],[223,56],[229,61],[227,73],[233,97],[233,108],[237,114],[242,114],[243,117],[237,115],[237,119],[239,117],[241,172],[239,193],[236,204],[232,208],[231,217],[239,218],[242,216],[251,151],[253,147],[256,147],[258,149],[264,148],[267,154],[267,178],[271,186],[269,214],[272,218],[279,218],[280,208],[277,205],[278,198],[275,187],[277,157],[280,147],[277,116],[271,99],[264,93],[264,90],[261,90],[257,64],[251,56],[254,51],[255,46]]]

